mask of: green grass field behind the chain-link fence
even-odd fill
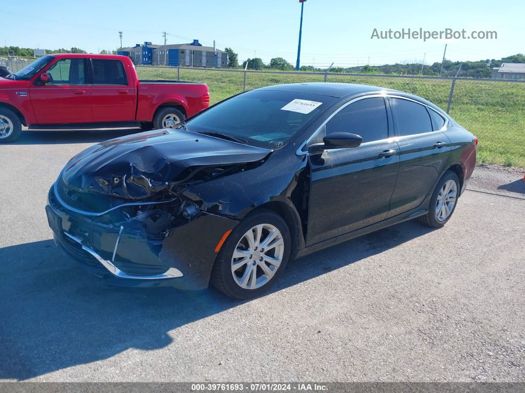
[[[138,67],[142,79],[177,79],[176,68]],[[243,91],[243,72],[181,68],[181,80],[208,84],[211,104]],[[279,83],[322,82],[323,75],[257,72],[246,90]],[[446,110],[450,80],[328,76],[328,82],[371,84],[419,95]],[[525,83],[458,80],[450,115],[479,138],[478,162],[525,167]]]

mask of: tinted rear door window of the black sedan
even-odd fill
[[[426,108],[413,101],[391,98],[401,136],[432,131],[432,122]]]

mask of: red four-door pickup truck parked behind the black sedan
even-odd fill
[[[173,128],[207,108],[205,83],[139,80],[117,55],[40,57],[0,78],[0,143],[30,129]]]

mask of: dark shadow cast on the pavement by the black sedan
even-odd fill
[[[290,262],[270,293],[430,231],[407,221],[310,254]],[[52,240],[0,248],[0,261],[0,379],[25,380],[130,348],[162,348],[177,327],[249,302],[215,289],[106,286],[62,256]]]

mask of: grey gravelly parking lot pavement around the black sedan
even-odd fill
[[[525,381],[523,173],[476,169],[445,228],[314,253],[260,299],[115,289],[62,256],[44,206],[72,155],[134,131],[0,145],[0,379]]]

